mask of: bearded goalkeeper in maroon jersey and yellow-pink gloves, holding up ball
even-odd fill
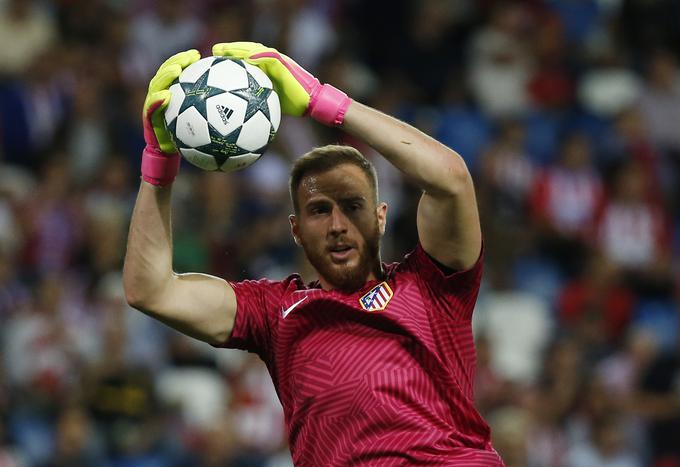
[[[292,168],[293,239],[318,272],[305,284],[228,282],[172,271],[170,189],[179,156],[163,126],[167,87],[198,60],[161,66],[144,106],[147,146],[125,258],[129,303],[218,347],[257,353],[283,405],[296,465],[503,465],[473,406],[472,310],[482,240],[470,174],[454,151],[349,99],[275,49],[217,44],[272,79],[284,113],[341,127],[423,189],[419,242],[380,261],[387,205],[373,166],[346,146]]]

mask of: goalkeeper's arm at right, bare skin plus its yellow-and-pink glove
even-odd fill
[[[482,244],[477,202],[470,173],[456,152],[406,123],[322,85],[276,49],[254,42],[231,42],[216,44],[213,54],[259,66],[272,79],[285,113],[342,126],[413,178],[423,189],[417,222],[425,251],[456,270],[477,261]]]

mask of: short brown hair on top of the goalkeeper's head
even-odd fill
[[[359,167],[368,178],[376,203],[378,202],[378,175],[373,164],[364,157],[358,149],[352,146],[328,144],[314,148],[293,163],[288,181],[290,199],[293,201],[295,213],[299,211],[297,190],[303,177],[331,170],[342,164],[352,164]]]

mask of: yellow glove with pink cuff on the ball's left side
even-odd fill
[[[152,185],[173,182],[179,171],[180,156],[165,125],[164,111],[170,103],[168,88],[182,70],[201,58],[197,50],[180,52],[160,66],[149,83],[142,122],[146,147],[142,152],[142,179]]]

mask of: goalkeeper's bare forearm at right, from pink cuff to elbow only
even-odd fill
[[[470,174],[458,153],[411,125],[366,105],[352,102],[342,128],[378,151],[432,195],[457,194],[469,183]]]

